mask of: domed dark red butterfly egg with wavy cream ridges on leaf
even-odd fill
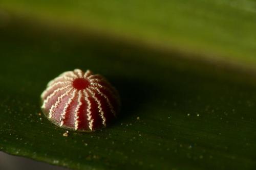
[[[42,112],[55,125],[75,131],[94,131],[112,122],[120,108],[116,89],[91,70],[66,71],[41,94]]]

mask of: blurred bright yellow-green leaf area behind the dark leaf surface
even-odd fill
[[[256,65],[254,1],[2,0],[0,7],[207,60]]]

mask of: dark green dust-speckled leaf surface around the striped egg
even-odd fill
[[[1,28],[0,150],[72,169],[256,167],[254,75],[75,31],[20,18]],[[74,68],[108,78],[122,111],[64,137],[39,96]]]

